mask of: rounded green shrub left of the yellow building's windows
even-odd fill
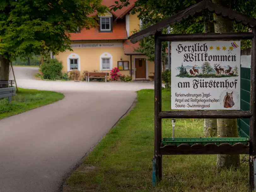
[[[42,64],[42,73],[44,79],[61,79],[62,62],[57,59],[46,59]]]

